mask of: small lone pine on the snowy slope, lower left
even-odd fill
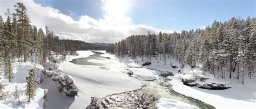
[[[26,77],[26,91],[25,94],[28,98],[28,102],[36,96],[37,78],[35,69],[31,69],[29,75]]]

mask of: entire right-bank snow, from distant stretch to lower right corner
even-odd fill
[[[113,58],[113,57],[112,57]],[[176,74],[179,70],[179,62],[173,58],[166,59],[166,64],[163,64],[163,60],[157,61],[156,59],[130,59],[129,57],[118,57],[117,60],[121,60],[122,62],[127,62],[128,64],[132,64],[133,66],[141,67],[142,63],[146,61],[152,62],[150,66],[145,66],[145,68],[150,69],[158,69],[164,71],[173,72]],[[177,69],[171,68],[171,66],[177,66]],[[229,75],[228,67],[226,67],[226,76]],[[192,71],[193,70],[193,71]],[[256,108],[256,78],[255,75],[252,75],[252,79],[249,79],[247,74],[245,76],[245,84],[241,84],[240,79],[235,79],[234,76],[232,79],[226,77],[226,79],[221,79],[219,75],[214,77],[212,74],[206,72],[203,74],[203,71],[199,69],[192,69],[186,67],[184,69],[184,74],[176,74],[175,76],[168,77],[172,79],[170,83],[173,85],[173,90],[177,91],[185,96],[192,97],[198,100],[201,100],[207,104],[210,104],[216,108]],[[199,77],[208,77],[207,82],[209,83],[228,83],[232,88],[226,90],[208,90],[208,89],[200,89],[197,87],[186,86],[181,82],[181,78],[194,78],[193,72],[196,76]],[[216,74],[220,74],[220,72],[216,71]],[[233,74],[235,75],[235,74]],[[207,82],[201,82],[207,83]],[[200,82],[199,82],[200,83]]]

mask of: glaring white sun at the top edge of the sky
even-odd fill
[[[127,11],[127,0],[107,0],[105,10],[110,16],[122,16]]]

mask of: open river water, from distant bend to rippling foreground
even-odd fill
[[[87,60],[95,59],[95,60],[105,60],[109,59],[107,57],[102,57],[103,53],[93,52],[95,54],[85,57],[74,59],[70,62],[80,65],[93,65],[93,66],[100,66],[99,68],[102,69],[110,69],[102,63],[93,63]],[[114,64],[114,63],[109,63]],[[113,65],[114,66],[114,65]],[[128,67],[128,66],[127,66]],[[121,70],[121,72],[127,73],[132,75],[132,72],[125,69]],[[156,70],[156,69],[152,69]],[[156,70],[161,72],[163,75],[159,75],[160,79],[156,79],[154,81],[145,81],[145,86],[142,89],[124,92],[124,93],[117,93],[114,95],[106,96],[104,98],[93,98],[91,99],[91,104],[87,108],[136,108],[136,107],[150,107],[150,108],[157,108],[155,107],[158,103],[158,99],[160,98],[168,98],[168,99],[176,99],[183,101],[184,103],[192,104],[199,108],[214,108],[211,105],[207,105],[197,99],[193,99],[190,97],[186,97],[181,95],[180,93],[175,92],[172,90],[172,85],[170,84],[170,79],[166,78],[166,71]],[[171,75],[170,72],[167,75]]]

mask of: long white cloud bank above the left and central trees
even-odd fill
[[[7,8],[15,12],[14,4],[21,2],[18,0],[1,1],[0,12],[3,18]],[[26,6],[31,20],[31,24],[37,27],[49,27],[49,30],[56,33],[59,38],[82,40],[86,42],[116,42],[133,34],[159,33],[159,31],[171,33],[171,30],[160,30],[146,25],[133,25],[132,18],[123,15],[109,16],[103,15],[103,19],[94,19],[89,16],[80,16],[76,21],[71,16],[61,13],[57,9],[44,7],[36,4],[32,0],[22,3]]]

